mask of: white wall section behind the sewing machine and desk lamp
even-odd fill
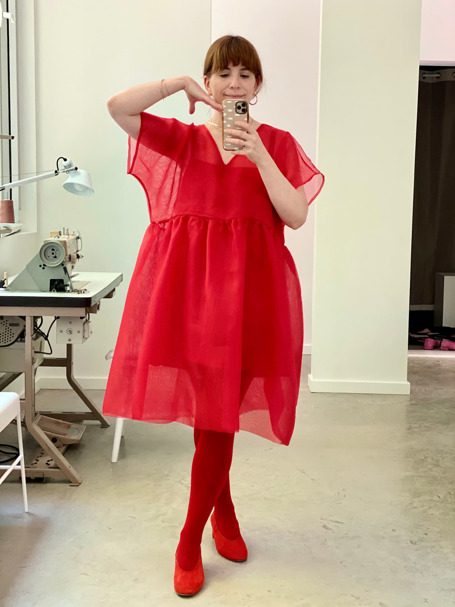
[[[50,229],[79,229],[84,259],[79,271],[123,272],[116,297],[103,300],[92,317],[93,335],[75,348],[75,375],[86,387],[104,388],[127,286],[147,227],[146,198],[126,175],[127,135],[110,118],[106,101],[134,84],[187,74],[202,82],[210,45],[210,1],[81,0],[36,3],[36,124],[38,171],[66,155],[92,175],[95,195],[78,197],[63,178],[38,183],[39,239]],[[198,104],[201,106],[201,104]],[[204,109],[190,116],[184,92],[153,112],[203,123]],[[52,330],[51,336],[55,336]],[[64,354],[55,347],[55,355]],[[39,369],[41,377],[64,370]],[[41,387],[66,381],[41,380]]]

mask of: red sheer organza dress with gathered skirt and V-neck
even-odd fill
[[[312,202],[324,176],[286,131],[258,135]],[[224,164],[203,124],[141,113],[128,174],[147,227],[126,297],[104,415],[288,445],[303,348],[300,283],[257,166]]]

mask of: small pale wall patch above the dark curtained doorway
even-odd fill
[[[455,65],[454,0],[422,0],[420,64]]]

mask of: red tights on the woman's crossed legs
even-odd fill
[[[177,548],[178,565],[186,571],[197,565],[204,527],[214,506],[221,534],[229,540],[240,534],[229,486],[234,434],[195,428],[194,443],[188,513]]]

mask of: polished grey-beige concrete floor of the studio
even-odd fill
[[[302,378],[309,371],[305,357]],[[455,360],[411,359],[411,396],[311,394],[289,447],[236,436],[231,485],[246,563],[203,538],[201,606],[418,607],[455,603]],[[92,392],[101,406],[103,393]],[[71,392],[45,404],[80,409]],[[2,443],[15,443],[8,427]],[[26,433],[24,432],[24,438]],[[182,605],[174,554],[194,444],[180,424],[92,422],[67,457],[83,483],[0,487],[2,607]],[[33,442],[25,443],[35,451]],[[26,458],[27,459],[27,458]]]

